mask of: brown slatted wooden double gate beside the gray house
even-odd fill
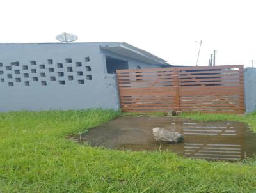
[[[124,112],[244,113],[243,65],[117,70]]]

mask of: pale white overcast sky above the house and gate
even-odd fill
[[[127,42],[173,65],[252,66],[256,60],[256,1],[1,0],[0,42]],[[1,53],[0,53],[1,55]],[[256,62],[255,62],[256,65]]]

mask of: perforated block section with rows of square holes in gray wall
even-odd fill
[[[48,86],[54,81],[63,86],[71,81],[77,84],[92,81],[90,57],[84,57],[84,61],[72,61],[72,58],[65,58],[64,61],[65,63],[53,59],[45,59],[45,63],[35,60],[27,63],[0,61],[0,86]]]

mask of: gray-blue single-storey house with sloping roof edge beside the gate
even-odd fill
[[[0,43],[0,111],[118,109],[116,70],[166,66],[127,43]]]

